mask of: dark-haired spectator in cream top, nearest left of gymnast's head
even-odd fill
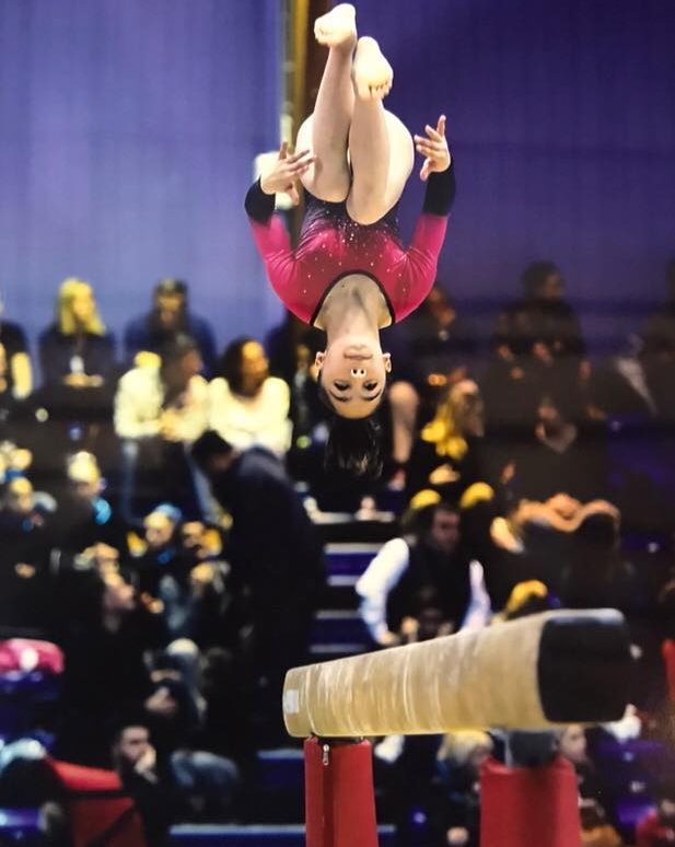
[[[209,385],[210,429],[245,450],[257,444],[284,455],[290,446],[290,390],[269,375],[269,362],[254,338],[237,338],[224,351]]]

